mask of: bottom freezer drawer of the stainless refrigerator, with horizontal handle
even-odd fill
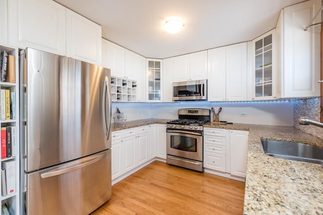
[[[27,214],[89,214],[111,198],[111,149],[26,178]]]

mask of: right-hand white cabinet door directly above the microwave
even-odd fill
[[[190,54],[189,80],[207,79],[207,50]]]

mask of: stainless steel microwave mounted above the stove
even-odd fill
[[[207,100],[207,80],[174,82],[173,100]]]

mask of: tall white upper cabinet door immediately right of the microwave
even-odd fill
[[[226,47],[209,49],[207,101],[226,100]]]

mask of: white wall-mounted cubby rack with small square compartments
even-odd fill
[[[113,102],[136,102],[137,82],[111,77],[111,97]]]

